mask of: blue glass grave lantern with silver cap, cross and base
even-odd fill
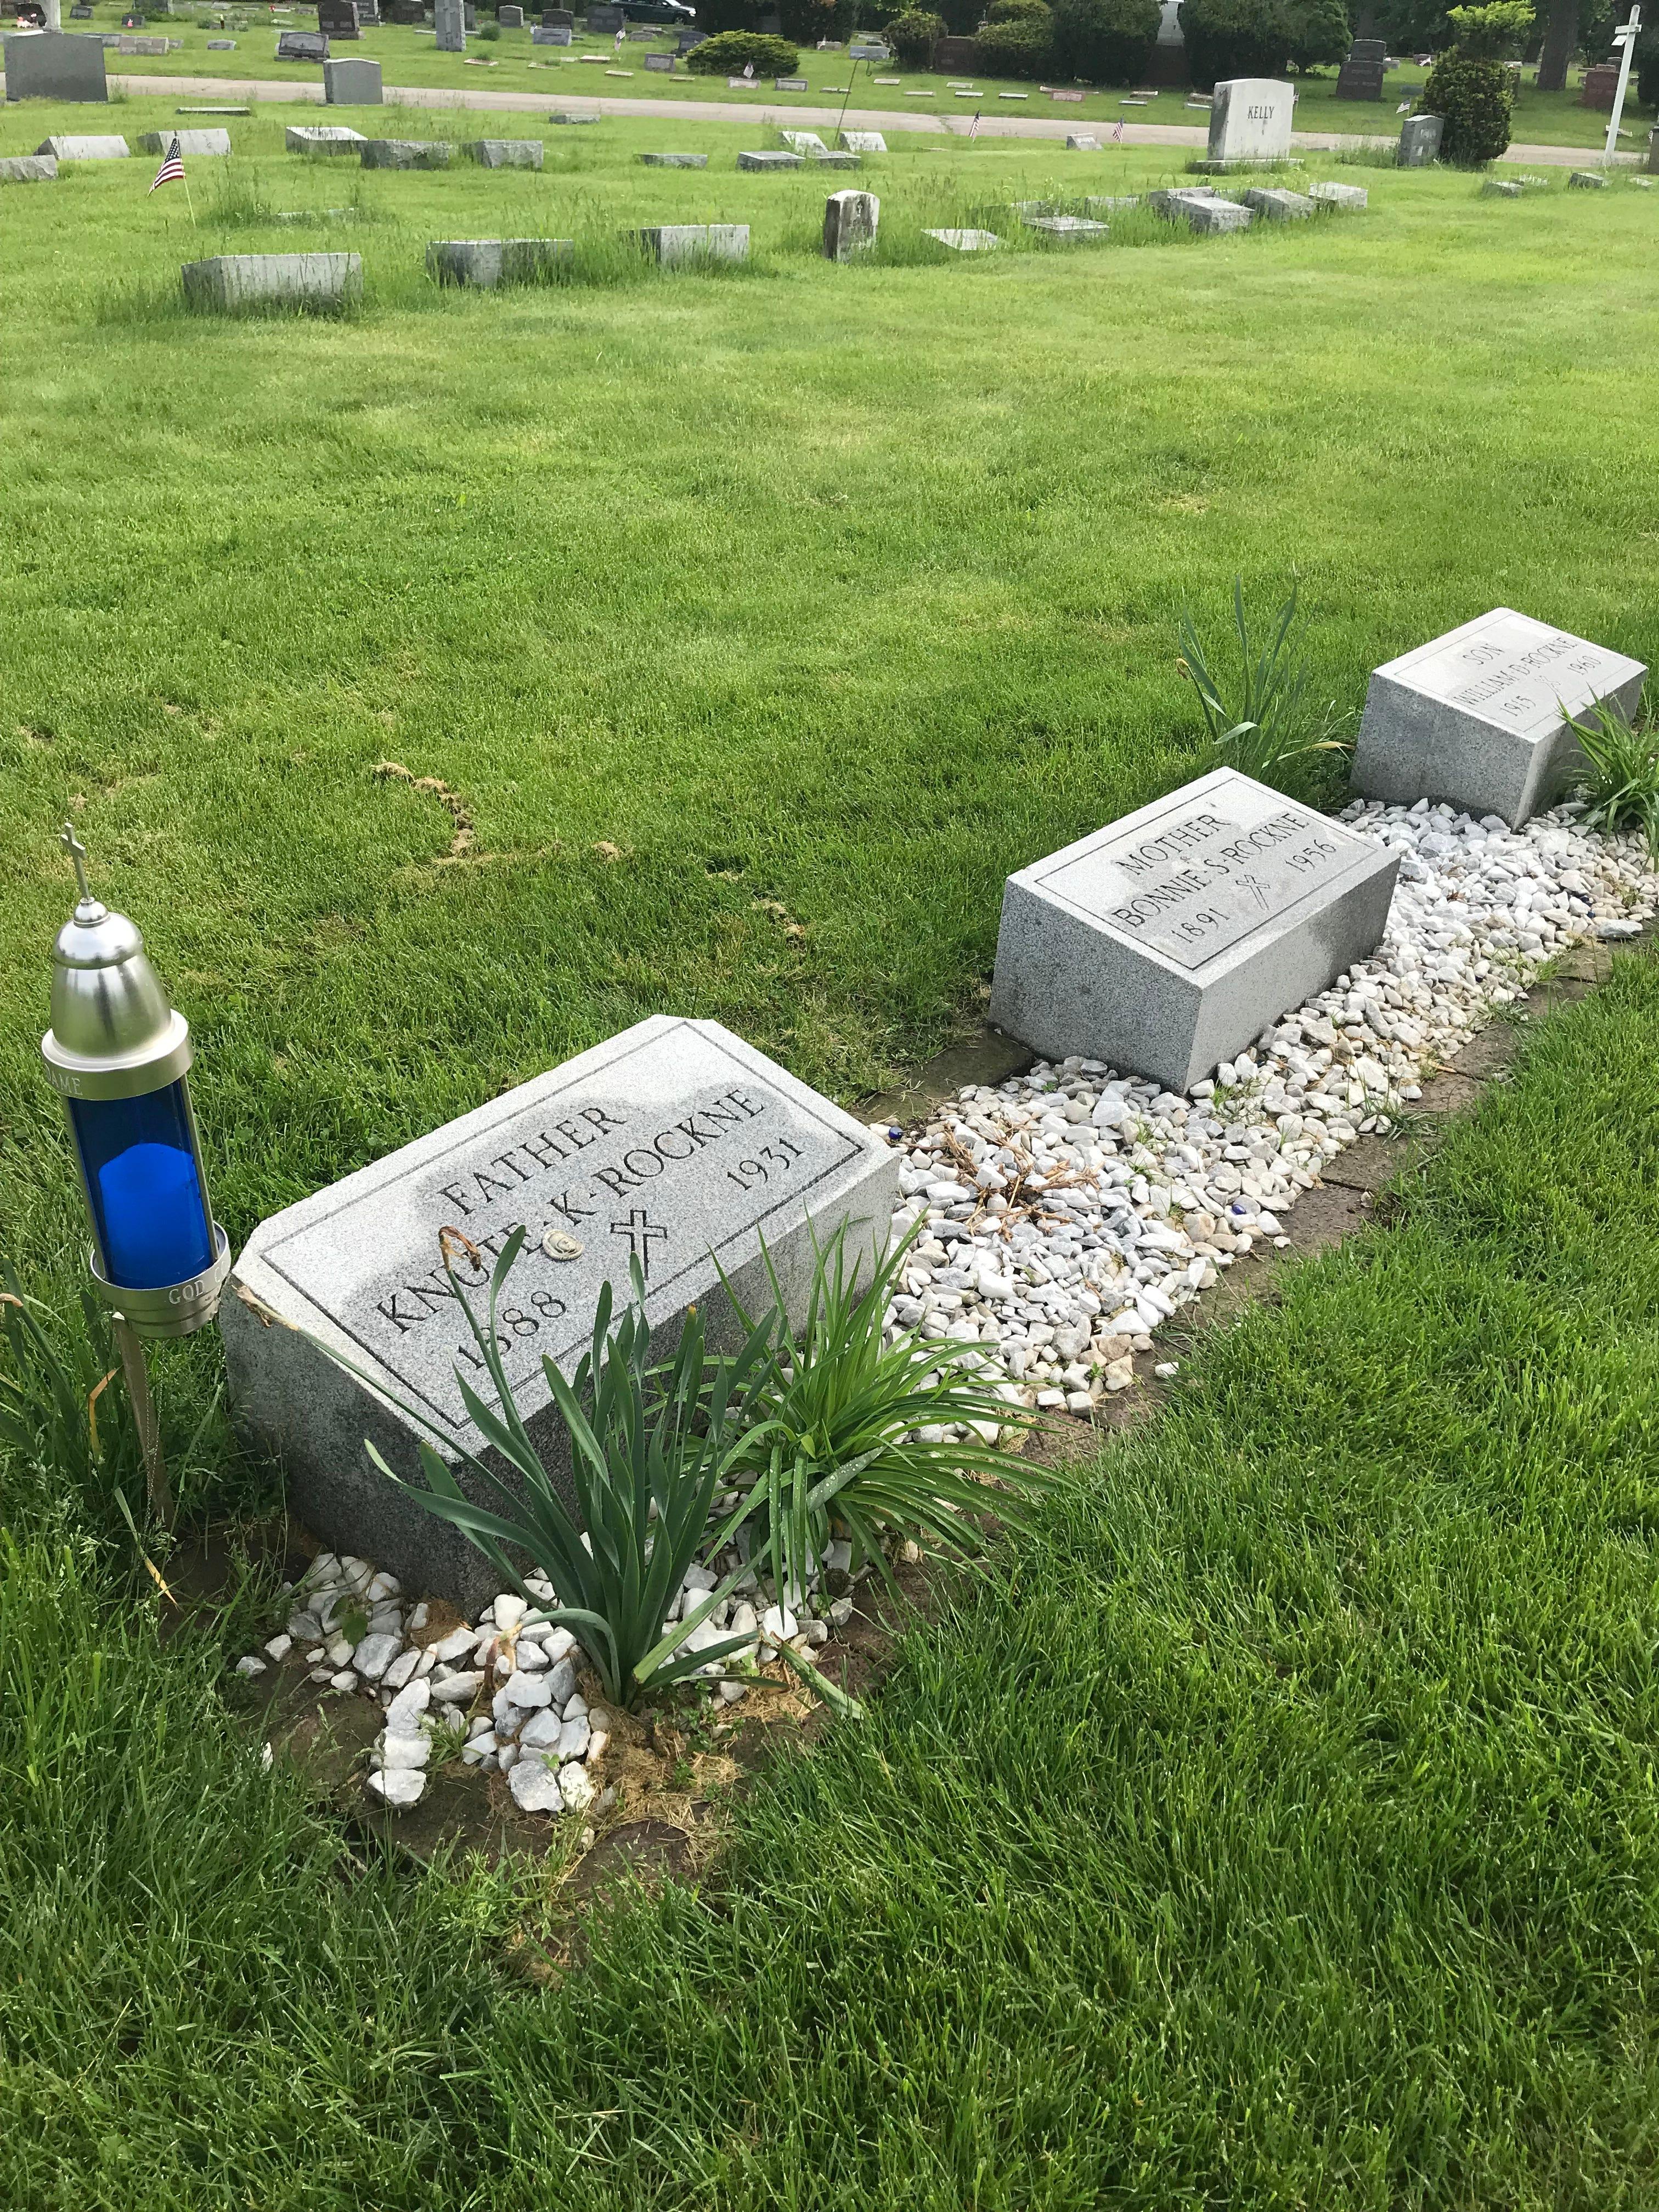
[[[190,1024],[168,1006],[133,922],[88,891],[69,823],[64,845],[80,905],[53,945],[40,1051],[69,1108],[93,1281],[139,1336],[188,1336],[212,1321],[230,1274],[190,1113]]]

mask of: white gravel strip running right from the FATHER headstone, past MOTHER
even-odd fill
[[[1402,854],[1383,942],[1188,1097],[1062,1060],[969,1084],[920,1135],[874,1124],[905,1150],[894,1232],[927,1223],[889,1336],[980,1343],[982,1374],[1044,1411],[1128,1389],[1133,1354],[1241,1252],[1285,1245],[1321,1168],[1553,953],[1639,933],[1659,898],[1646,845],[1577,812],[1509,830],[1429,801],[1349,805],[1352,830]]]

